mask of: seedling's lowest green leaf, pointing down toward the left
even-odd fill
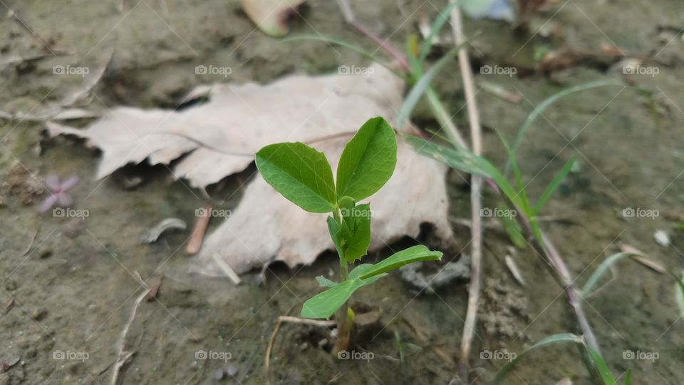
[[[360,272],[364,272],[368,269],[368,267],[372,266],[373,265],[368,264],[359,265],[349,274],[350,279],[335,284],[333,287],[327,289],[325,292],[318,293],[314,297],[308,299],[306,302],[304,302],[304,307],[301,308],[301,317],[331,317],[340,307],[342,307],[342,305],[345,302],[347,302],[347,299],[351,297],[351,294],[353,294],[353,292],[356,292],[356,290],[360,287],[364,287],[367,284],[372,284],[373,282],[383,277],[383,275],[379,275],[371,279],[358,278],[358,274]],[[355,273],[356,270],[359,271]],[[326,281],[323,282],[325,282],[326,285],[328,284],[328,282]],[[318,280],[318,283],[321,283],[321,280]]]

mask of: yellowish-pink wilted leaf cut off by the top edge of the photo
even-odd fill
[[[286,24],[287,17],[294,12],[296,6],[304,3],[304,0],[241,0],[240,2],[249,19],[252,19],[264,34],[279,37],[289,32]]]

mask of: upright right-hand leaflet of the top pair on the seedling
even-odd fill
[[[337,195],[359,201],[390,179],[397,163],[397,138],[383,118],[371,118],[344,146],[337,167]]]

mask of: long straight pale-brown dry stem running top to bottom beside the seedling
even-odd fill
[[[455,3],[455,0],[450,0]],[[465,48],[465,36],[463,34],[463,23],[460,9],[454,8],[451,11],[451,26],[456,46],[462,46],[458,52],[458,63],[461,68],[463,78],[463,88],[470,120],[470,137],[472,140],[472,152],[480,156],[482,154],[482,128],[480,127],[480,113],[477,111],[475,101],[475,81],[472,78],[472,68],[468,51]],[[475,335],[475,322],[477,322],[477,303],[480,301],[480,267],[482,261],[482,217],[480,208],[482,200],[480,190],[482,189],[482,178],[478,175],[471,175],[470,185],[470,212],[472,215],[472,227],[470,227],[471,240],[471,274],[470,288],[468,289],[468,309],[465,315],[465,327],[461,337],[461,351],[458,364],[458,375],[460,379],[468,384],[468,356],[472,345],[472,336]]]

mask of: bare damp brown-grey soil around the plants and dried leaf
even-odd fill
[[[417,32],[420,14],[434,18],[445,1],[351,4],[359,19],[402,47]],[[56,76],[54,66],[94,70],[112,47],[107,71],[87,106],[91,111],[116,105],[175,108],[201,83],[266,82],[287,73],[329,73],[343,64],[367,63],[346,48],[266,37],[254,31],[238,1],[6,1],[0,6],[6,7],[21,22],[0,19],[0,58],[47,55],[0,67],[0,110],[13,113],[44,111],[78,91],[83,78]],[[637,89],[621,86],[575,94],[544,112],[520,150],[533,197],[566,160],[578,156],[581,167],[546,207],[546,215],[556,220],[544,222],[544,228],[579,284],[620,244],[647,252],[673,272],[684,267],[684,233],[673,230],[673,219],[684,211],[682,12],[676,0],[628,5],[571,0],[534,16],[527,34],[494,21],[467,23],[476,69],[484,64],[520,68],[517,76],[477,76],[523,95],[514,104],[487,91],[477,93],[486,128],[484,148],[499,165],[505,159],[494,129],[513,138],[534,106],[553,93],[585,81],[623,78],[621,71],[611,70],[619,58],[603,56],[551,73],[534,72],[536,51],[564,47],[600,54],[605,43],[629,55],[655,56],[643,66],[657,67],[657,75],[631,76],[636,87],[652,93],[653,103]],[[551,26],[558,33],[544,37]],[[344,23],[333,1],[307,2],[291,29],[377,48]],[[198,65],[229,66],[232,73],[198,75]],[[457,112],[457,123],[467,127],[457,63],[436,83]],[[421,123],[435,127],[430,120]],[[356,296],[381,310],[380,327],[358,335],[352,346],[358,353],[372,352],[373,359],[336,359],[326,351],[327,329],[284,324],[266,375],[264,354],[276,317],[299,312],[301,301],[318,290],[314,277],[336,270],[333,255],[296,270],[275,265],[261,284],[259,272],[247,274],[237,287],[227,279],[191,276],[186,272],[186,232],[166,233],[152,245],[141,245],[140,237],[165,217],[192,224],[195,209],[209,202],[201,191],[174,181],[160,166],[132,165],[95,180],[97,152],[68,138],[47,140],[40,123],[0,120],[0,144],[0,307],[6,307],[0,313],[0,361],[9,366],[0,370],[0,384],[110,383],[118,341],[140,294],[138,274],[150,285],[163,280],[158,299],[142,302],[130,324],[125,347],[133,356],[120,374],[123,384],[446,384],[451,378],[466,284],[415,295],[400,274],[392,274]],[[81,177],[71,193],[75,208],[88,210],[88,217],[38,214],[45,195],[36,191],[36,178],[48,174]],[[235,207],[241,178],[249,174],[214,186],[214,200],[225,200],[222,208]],[[125,180],[134,177],[142,183],[126,188]],[[467,218],[467,179],[456,172],[448,178],[452,215]],[[487,192],[484,205],[496,204]],[[623,217],[629,207],[660,215]],[[458,245],[467,252],[468,228],[454,228]],[[668,230],[671,247],[653,241],[658,229]],[[520,287],[504,265],[509,252],[504,232],[486,230],[484,242],[482,323],[471,359],[476,384],[492,379],[506,362],[487,359],[486,351],[519,354],[550,334],[579,333],[562,288],[534,252],[514,255],[527,280]],[[616,272],[585,305],[606,360],[617,374],[632,369],[634,384],[682,383],[684,323],[673,280],[630,261],[621,262]],[[404,344],[403,362],[396,334]],[[658,359],[629,359],[629,351],[655,352]],[[203,352],[213,359],[202,359]],[[234,376],[217,380],[220,369]],[[575,347],[530,354],[509,383],[555,384],[564,377],[590,383]]]

